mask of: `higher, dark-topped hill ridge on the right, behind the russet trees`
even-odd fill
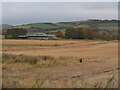
[[[59,22],[58,24],[73,26],[73,27],[93,27],[99,31],[118,31],[118,20],[95,20],[89,19],[86,21],[73,21],[73,22]]]

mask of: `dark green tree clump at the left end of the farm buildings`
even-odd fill
[[[5,32],[5,38],[17,39],[19,35],[26,35],[27,30],[23,28],[11,28]]]

